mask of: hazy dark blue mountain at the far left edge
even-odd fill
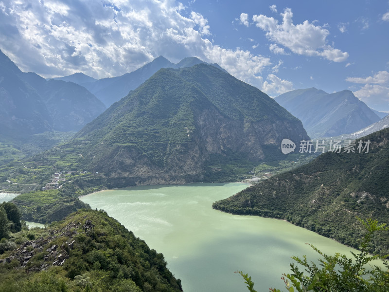
[[[0,140],[45,131],[77,131],[106,107],[84,87],[23,73],[0,51]]]

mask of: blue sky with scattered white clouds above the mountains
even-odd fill
[[[389,0],[0,0],[0,49],[45,78],[196,56],[271,97],[351,90],[389,112]]]

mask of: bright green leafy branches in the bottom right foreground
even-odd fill
[[[305,256],[292,258],[305,268],[305,272],[301,272],[299,267],[294,263],[290,264],[292,274],[283,274],[282,279],[289,292],[337,292],[337,291],[355,291],[355,292],[387,292],[389,291],[389,264],[384,261],[386,271],[383,271],[377,266],[366,268],[366,265],[375,259],[384,260],[388,255],[380,256],[369,254],[370,243],[375,232],[381,230],[389,230],[385,227],[386,224],[378,224],[377,220],[367,219],[358,220],[367,229],[360,243],[360,253],[353,252],[352,258],[338,253],[335,256],[327,256],[320,252],[316,247],[311,247],[318,252],[322,258],[319,259],[319,265],[307,262]],[[250,292],[254,290],[254,283],[248,274],[241,271],[236,272],[245,279]],[[270,289],[271,292],[280,292],[278,289]]]

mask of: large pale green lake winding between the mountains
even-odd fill
[[[104,209],[137,237],[163,253],[185,292],[247,292],[249,273],[258,292],[282,289],[290,256],[318,258],[306,242],[326,254],[350,248],[286,221],[238,216],[212,209],[212,202],[243,190],[244,183],[196,183],[106,190],[80,198]],[[282,203],[282,202],[280,202]]]

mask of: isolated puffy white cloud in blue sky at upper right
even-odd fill
[[[327,44],[330,32],[326,28],[309,23],[308,20],[294,25],[290,8],[286,8],[281,16],[283,17],[281,24],[275,18],[262,14],[254,15],[253,20],[257,27],[266,32],[266,37],[295,54],[321,56],[334,62],[342,62],[348,58],[347,52],[342,52]]]

